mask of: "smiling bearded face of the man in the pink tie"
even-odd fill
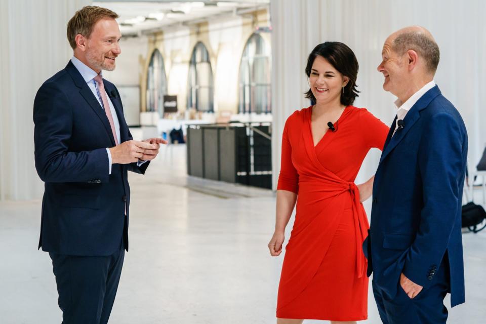
[[[78,46],[86,57],[87,65],[99,73],[100,70],[112,71],[115,69],[115,59],[120,55],[119,41],[121,37],[118,23],[112,18],[103,18],[93,26],[89,38],[82,35]]]

